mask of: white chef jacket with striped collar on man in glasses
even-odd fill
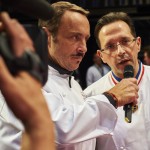
[[[125,122],[125,112],[123,107],[119,107],[113,136],[100,137],[97,140],[99,150],[150,150],[150,66],[140,62],[136,78],[139,86],[138,110],[132,114],[132,122]],[[84,94],[91,96],[103,93],[120,80],[110,71],[85,89]]]

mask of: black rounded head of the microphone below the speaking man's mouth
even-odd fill
[[[123,76],[124,78],[134,77],[134,69],[132,65],[125,66]]]

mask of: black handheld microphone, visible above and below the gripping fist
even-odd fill
[[[131,65],[125,66],[123,76],[124,76],[124,78],[134,77],[133,66],[131,66]],[[125,121],[128,123],[131,123],[131,120],[132,120],[132,103],[126,104],[123,107],[123,109],[125,111]]]

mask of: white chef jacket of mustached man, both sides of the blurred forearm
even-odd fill
[[[57,149],[94,150],[95,137],[114,129],[116,110],[103,95],[84,99],[79,84],[72,78],[70,88],[69,76],[52,67],[48,77],[43,93],[56,126]],[[23,130],[0,94],[0,150],[19,150]]]

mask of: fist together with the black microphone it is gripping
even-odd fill
[[[138,99],[139,87],[137,85],[136,78],[133,78],[133,76],[133,67],[126,66],[124,70],[124,79],[117,83],[112,89],[107,91],[107,93],[110,93],[110,95],[115,96],[115,100],[117,101],[117,107],[125,106],[124,110],[127,122],[131,122],[131,106],[136,105]]]

